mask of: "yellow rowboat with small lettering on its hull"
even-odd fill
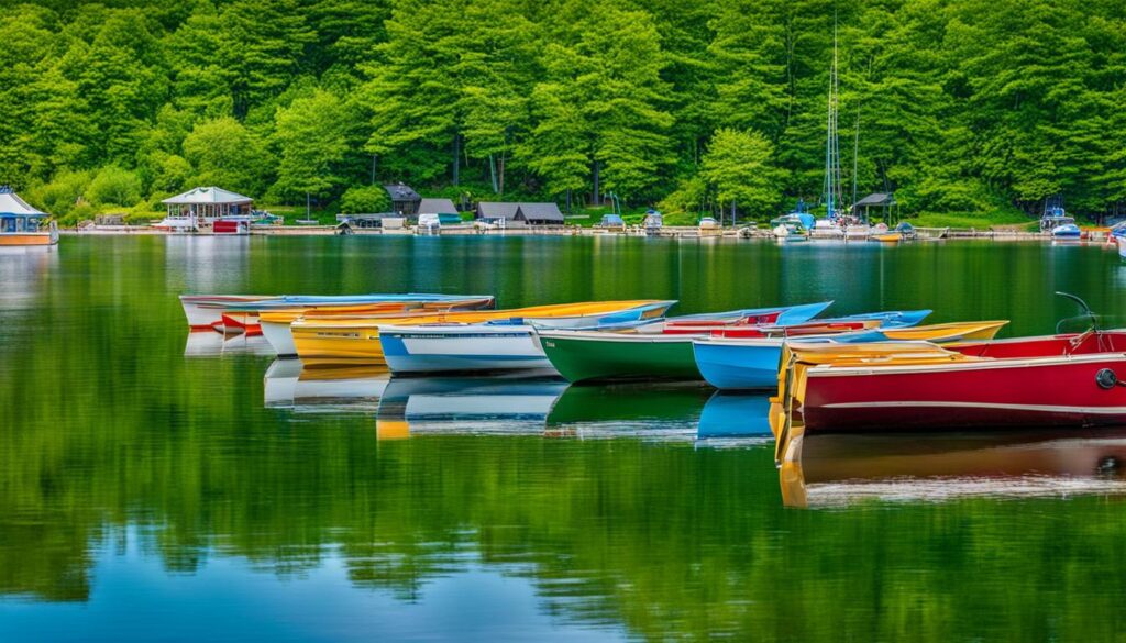
[[[481,323],[510,320],[545,328],[583,328],[598,323],[627,323],[658,319],[676,302],[636,300],[553,304],[503,311],[453,311],[365,319],[315,319],[306,316],[291,324],[298,357],[363,359],[384,364],[379,329],[429,323]]]

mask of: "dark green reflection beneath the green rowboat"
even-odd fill
[[[547,432],[688,441],[711,394],[698,382],[571,385],[552,408]]]

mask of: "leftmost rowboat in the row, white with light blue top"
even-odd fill
[[[466,301],[485,301],[492,305],[493,297],[489,295],[431,295],[431,294],[387,294],[387,295],[180,295],[180,306],[191,330],[222,329],[223,313],[240,323],[250,321],[254,314],[263,311],[285,311],[293,309],[316,309],[333,306],[366,306],[378,304],[454,304]]]

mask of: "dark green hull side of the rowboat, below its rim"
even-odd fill
[[[544,354],[570,382],[703,379],[692,337],[599,331],[539,331]]]

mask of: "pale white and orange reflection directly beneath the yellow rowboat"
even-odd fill
[[[262,389],[267,407],[374,413],[390,379],[386,366],[303,365],[296,359],[276,359],[266,369]]]

